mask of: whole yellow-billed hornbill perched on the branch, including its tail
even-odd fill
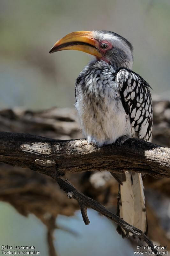
[[[127,39],[106,30],[76,31],[58,40],[50,53],[78,50],[93,56],[75,84],[76,109],[88,143],[121,147],[129,138],[152,141],[150,85],[132,71],[133,47]],[[117,214],[147,233],[141,173],[112,173],[119,182]],[[125,231],[118,227],[118,232]]]

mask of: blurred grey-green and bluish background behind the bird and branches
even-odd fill
[[[170,99],[169,0],[1,0],[0,108],[73,107],[75,79],[91,57],[75,51],[49,54],[49,50],[72,31],[98,29],[114,31],[127,38],[134,46],[133,70],[152,86],[155,98],[159,95],[159,99]],[[33,216],[26,220],[8,204],[1,203],[0,209],[1,244],[32,245],[34,242],[41,255],[47,256],[42,224]],[[59,222],[76,226],[77,231],[88,236],[89,250],[94,248],[97,239],[94,252],[98,247],[98,256],[103,255],[101,248],[106,249],[106,241],[105,255],[113,255],[113,250],[115,255],[122,255],[113,246],[113,240],[118,244],[116,239],[120,243],[121,237],[116,238],[117,233],[109,230],[113,228],[111,222],[92,211],[90,215],[94,222],[91,228],[84,227],[79,215],[74,225],[71,218],[61,218]],[[61,232],[56,234],[61,256],[80,255],[83,242],[75,251],[78,238],[56,232]],[[127,246],[126,255],[132,255],[125,240],[122,246]],[[82,256],[88,251],[83,253]]]

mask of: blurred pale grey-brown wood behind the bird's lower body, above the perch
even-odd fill
[[[24,132],[52,139],[82,138],[76,110],[24,108],[0,110],[0,132]],[[153,101],[153,143],[170,147],[170,101]]]

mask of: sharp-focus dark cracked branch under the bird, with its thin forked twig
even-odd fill
[[[52,140],[29,134],[0,132],[0,161],[13,166],[27,167],[55,179],[69,198],[75,198],[86,225],[90,223],[87,207],[100,212],[121,226],[127,233],[140,237],[149,246],[152,241],[143,232],[115,214],[102,204],[80,193],[67,180],[68,172],[132,170],[154,177],[170,177],[170,149],[130,139],[121,147],[114,145],[96,148],[86,140]],[[52,230],[50,231],[52,232]],[[51,241],[51,233],[48,234]],[[156,252],[156,250],[153,249]]]

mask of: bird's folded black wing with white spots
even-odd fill
[[[152,141],[152,98],[150,85],[135,72],[123,68],[116,75],[123,107],[130,117],[132,135]]]

